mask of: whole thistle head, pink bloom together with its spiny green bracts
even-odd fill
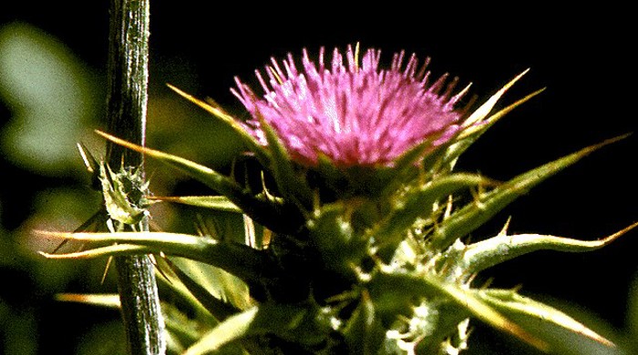
[[[273,177],[274,194],[263,176],[262,190],[244,188],[210,167],[100,133],[179,168],[217,193],[154,199],[207,208],[213,226],[217,218],[238,225],[218,233],[200,218],[197,236],[44,232],[85,241],[91,248],[43,255],[160,255],[156,261],[166,271],[167,289],[197,314],[193,322],[178,309],[166,312],[175,351],[188,348],[184,353],[189,355],[222,349],[452,355],[468,347],[468,318],[544,351],[616,353],[611,341],[560,310],[522,296],[518,289],[475,288],[472,279],[536,250],[600,249],[638,223],[592,241],[510,234],[507,224],[491,238],[469,242],[468,236],[530,188],[622,137],[504,183],[457,172],[454,162],[483,132],[541,90],[492,113],[523,72],[466,117],[455,106],[467,88],[454,94],[456,80],[446,84],[447,76],[429,84],[427,62],[417,69],[411,56],[404,66],[404,53],[398,53],[390,68],[382,70],[378,50],[367,50],[361,62],[357,54],[357,48],[348,47],[345,65],[334,50],[332,66],[326,68],[323,49],[317,64],[304,51],[303,72],[293,56],[282,66],[273,59],[268,84],[257,73],[262,98],[238,79],[233,92],[252,114],[247,122],[173,87],[243,139]],[[325,159],[331,164],[324,164]],[[411,168],[419,159],[423,164]],[[146,189],[134,174],[107,177],[101,179],[107,209],[112,186],[132,183]],[[134,217],[145,213],[140,208],[146,204],[119,195],[118,206],[108,209],[109,218],[137,222]],[[122,211],[135,213],[131,219]],[[242,218],[226,219],[228,213]],[[165,304],[165,309],[173,308]]]

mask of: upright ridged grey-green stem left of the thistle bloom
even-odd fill
[[[149,80],[149,0],[111,0],[108,35],[108,131],[143,146]],[[108,143],[110,167],[143,168],[137,152]],[[148,230],[148,220],[142,223]],[[116,258],[118,290],[129,352],[164,354],[164,321],[147,256]]]

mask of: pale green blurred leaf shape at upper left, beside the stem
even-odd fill
[[[5,157],[47,175],[77,173],[73,144],[97,117],[94,74],[56,38],[31,25],[0,30],[0,93],[13,117],[2,134]]]

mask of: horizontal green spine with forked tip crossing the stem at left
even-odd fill
[[[275,268],[265,254],[238,244],[218,242],[211,238],[178,233],[118,232],[118,233],[65,233],[36,231],[54,238],[83,240],[94,243],[118,243],[116,246],[87,250],[79,253],[51,255],[49,259],[95,258],[102,256],[162,253],[205,262],[224,269],[247,282],[261,282],[264,273]]]

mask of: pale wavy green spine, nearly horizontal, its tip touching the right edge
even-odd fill
[[[539,234],[497,236],[469,245],[463,252],[462,262],[464,269],[471,274],[536,250],[584,252],[601,249],[636,227],[638,222],[600,240],[578,240]]]

